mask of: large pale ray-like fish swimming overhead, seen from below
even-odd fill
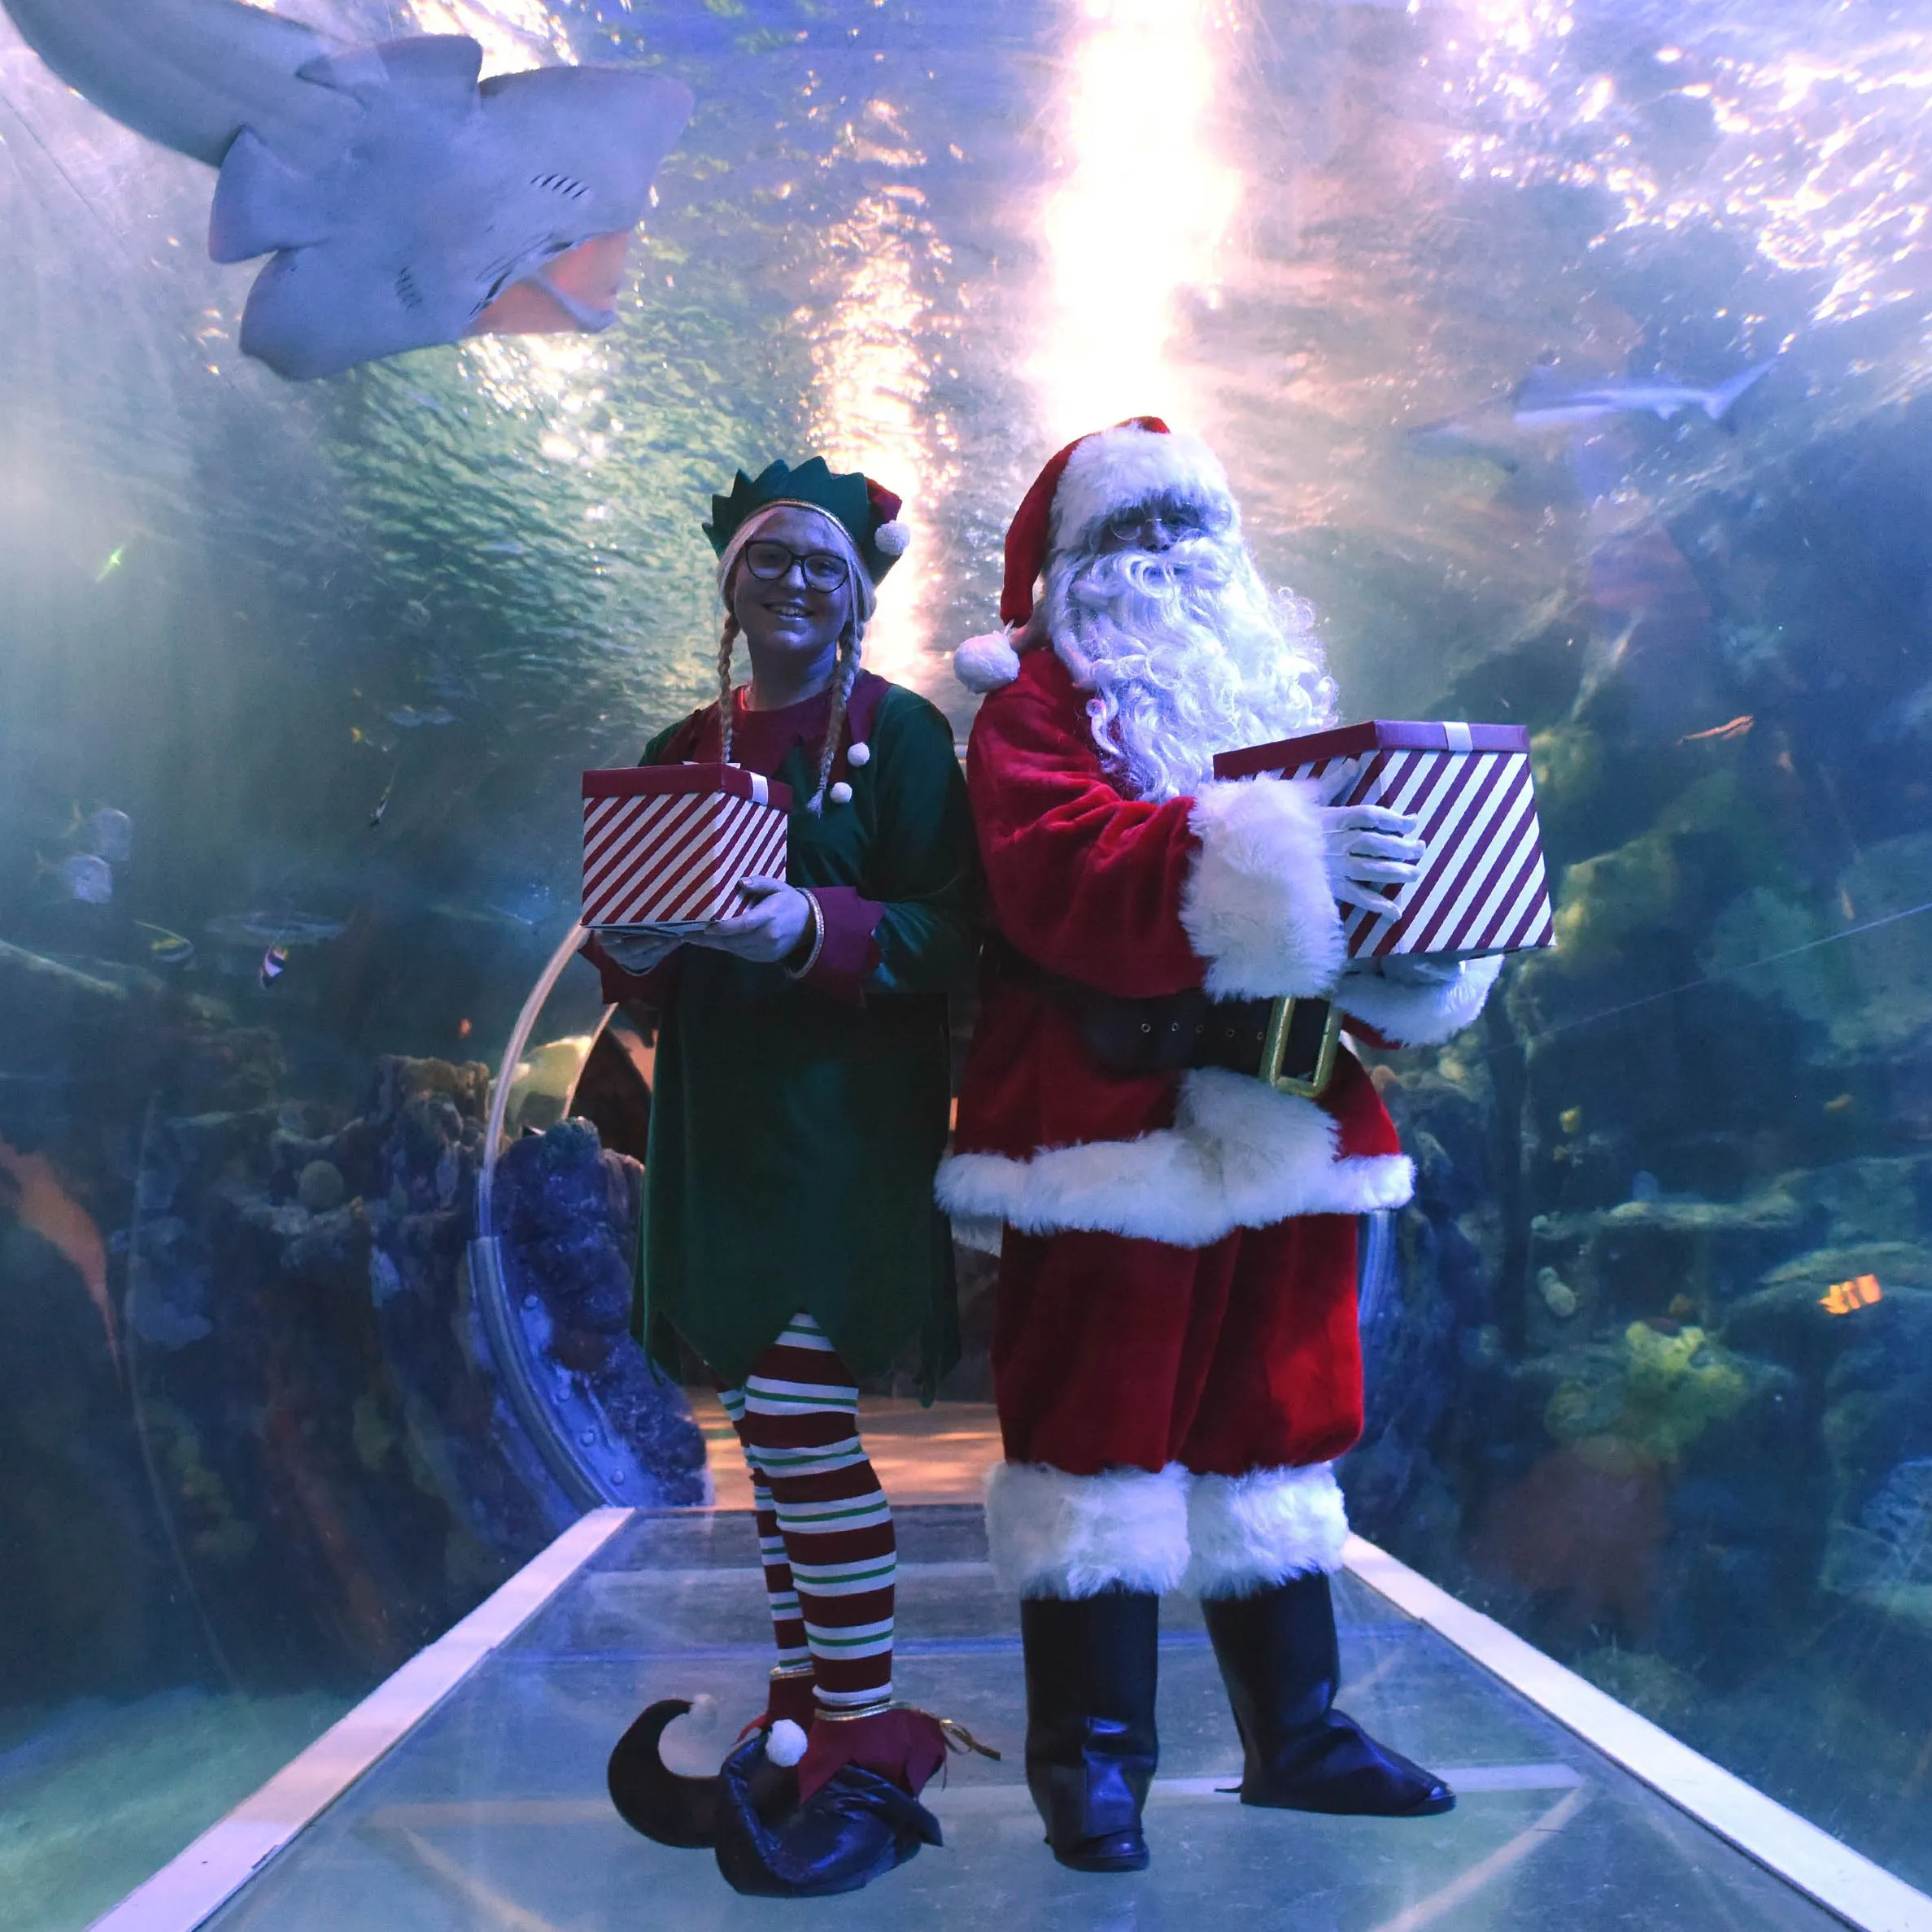
[[[242,350],[305,381],[477,334],[609,328],[690,89],[477,81],[466,35],[346,46],[242,0],[0,0],[70,87],[218,168],[214,261],[272,257]]]

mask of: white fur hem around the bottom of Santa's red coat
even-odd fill
[[[952,1215],[1024,1235],[1092,1229],[1208,1248],[1236,1227],[1298,1213],[1401,1208],[1416,1186],[1405,1153],[1339,1159],[1337,1126],[1312,1099],[1198,1066],[1180,1080],[1175,1124],[1138,1140],[1005,1153],[954,1153],[933,1192]]]

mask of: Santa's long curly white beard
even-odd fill
[[[1335,709],[1308,607],[1269,595],[1235,531],[1057,556],[1045,616],[1130,798],[1192,796],[1215,752],[1316,730]]]

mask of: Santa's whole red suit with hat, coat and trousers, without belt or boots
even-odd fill
[[[1063,458],[1009,537],[1009,620],[1055,533],[1161,491],[1227,498],[1206,446],[1146,421]],[[1401,1208],[1412,1169],[1350,1053],[1320,1099],[1221,1066],[1109,1072],[1066,987],[1321,995],[1352,1032],[1422,1045],[1478,1014],[1495,964],[1439,985],[1349,966],[1312,786],[1128,796],[1066,655],[995,638],[958,665],[989,690],[968,792],[1003,945],[937,1190],[956,1219],[1003,1223],[993,1561],[1024,1598],[1238,1596],[1341,1563],[1354,1217]]]

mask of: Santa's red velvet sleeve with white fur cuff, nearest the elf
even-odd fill
[[[966,773],[995,923],[1037,966],[1128,999],[1333,985],[1343,933],[1310,786],[1250,779],[1163,804],[1124,798],[1049,651],[987,697]]]

